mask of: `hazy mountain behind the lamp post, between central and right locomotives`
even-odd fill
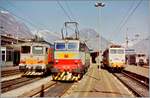
[[[93,51],[97,51],[100,49],[103,51],[105,50],[109,44],[111,44],[108,40],[100,36],[100,43],[99,43],[99,34],[91,28],[85,28],[80,30],[80,39],[86,41],[87,46],[92,49]]]

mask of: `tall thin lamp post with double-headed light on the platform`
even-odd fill
[[[96,2],[95,5],[94,5],[96,8],[98,8],[98,25],[100,26],[100,7],[104,7],[105,4],[104,3],[101,3],[101,2]],[[100,50],[101,50],[101,47],[100,47],[100,30],[99,30],[99,49],[98,49],[98,52],[99,52],[99,57],[98,57],[98,66],[100,66]]]

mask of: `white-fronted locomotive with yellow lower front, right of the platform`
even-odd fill
[[[103,65],[111,71],[121,71],[125,68],[125,48],[120,45],[111,45],[103,52]]]

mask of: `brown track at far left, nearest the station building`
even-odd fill
[[[21,73],[18,69],[1,71],[1,77],[7,77]]]

